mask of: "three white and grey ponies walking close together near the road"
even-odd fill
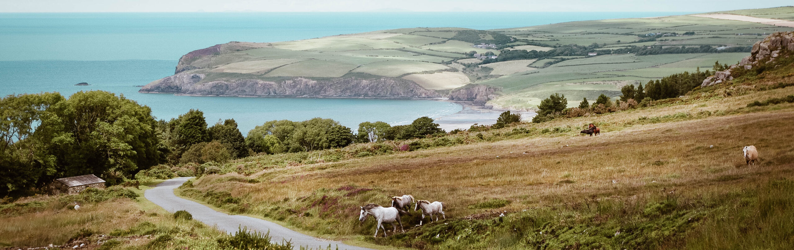
[[[372,215],[378,222],[378,225],[375,227],[375,237],[378,237],[378,229],[384,229],[384,237],[386,237],[386,229],[383,225],[384,222],[391,224],[391,227],[394,228],[392,232],[397,232],[397,225],[395,225],[395,222],[399,223],[399,229],[404,233],[405,229],[403,229],[403,222],[400,220],[399,216],[400,214],[409,215],[408,210],[410,210],[410,203],[414,203],[414,211],[422,210],[422,219],[419,220],[419,225],[422,225],[426,216],[430,217],[430,222],[433,222],[434,216],[437,222],[438,214],[441,214],[441,217],[446,219],[443,203],[430,203],[430,201],[414,199],[414,195],[403,195],[391,197],[391,206],[389,207],[380,206],[375,203],[361,206],[358,220],[364,222],[367,217]]]

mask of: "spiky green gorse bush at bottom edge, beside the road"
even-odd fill
[[[222,249],[250,249],[250,250],[292,250],[292,243],[284,241],[281,244],[270,242],[270,232],[250,232],[247,228],[237,229],[233,236],[218,239],[218,247]]]

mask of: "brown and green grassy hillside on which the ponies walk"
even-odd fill
[[[649,108],[393,142],[410,152],[387,142],[248,157],[178,192],[382,248],[792,248],[794,103],[748,105],[790,98],[792,75],[776,67]],[[602,134],[580,135],[588,123]],[[745,164],[748,145],[760,164]],[[379,238],[357,222],[359,206],[403,194],[443,202],[447,218],[415,226],[411,212],[406,233]]]

